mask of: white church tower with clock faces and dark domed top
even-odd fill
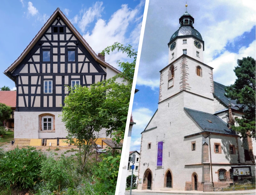
[[[180,28],[168,43],[169,65],[160,71],[159,103],[185,91],[184,107],[196,109],[194,105],[202,105],[200,111],[213,113],[206,109],[213,101],[213,68],[204,64],[204,41],[194,22],[186,5],[186,12],[179,19]]]

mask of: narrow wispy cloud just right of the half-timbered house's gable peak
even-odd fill
[[[82,32],[85,32],[86,27],[95,19],[100,18],[101,12],[104,10],[102,7],[103,2],[96,2],[92,7],[88,10],[84,11],[82,19],[78,23],[78,27]]]

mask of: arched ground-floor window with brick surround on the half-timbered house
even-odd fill
[[[55,131],[55,115],[44,113],[38,115],[39,131]]]

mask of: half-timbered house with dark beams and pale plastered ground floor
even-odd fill
[[[4,71],[17,87],[14,138],[65,138],[67,131],[59,116],[68,95],[65,85],[90,87],[118,73],[57,8]],[[104,129],[100,134],[106,138]]]

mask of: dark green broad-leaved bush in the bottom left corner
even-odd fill
[[[31,188],[40,180],[40,164],[46,156],[35,147],[26,147],[5,152],[0,158],[0,185]]]

